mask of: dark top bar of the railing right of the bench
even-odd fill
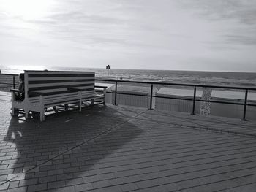
[[[154,82],[154,81],[133,81],[133,80],[107,80],[95,78],[99,81],[109,81],[109,82],[131,82],[131,83],[140,83],[140,84],[154,84],[154,85],[179,85],[187,87],[200,87],[200,88],[229,88],[229,89],[241,89],[241,90],[253,90],[256,91],[256,88],[252,87],[237,87],[237,86],[224,86],[224,85],[200,85],[192,83],[176,83],[176,82]]]

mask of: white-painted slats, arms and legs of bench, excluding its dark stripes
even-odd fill
[[[68,74],[74,75],[74,77],[29,77],[29,74]],[[75,86],[80,84],[94,84],[94,81],[86,81],[86,79],[94,79],[94,77],[77,77],[77,75],[93,74],[94,72],[45,72],[45,71],[25,71],[25,99],[24,101],[15,101],[15,93],[12,93],[12,115],[14,115],[14,110],[23,109],[26,113],[26,118],[29,116],[29,111],[39,112],[40,120],[45,120],[45,108],[53,107],[61,104],[71,104],[77,103],[79,111],[81,111],[83,101],[90,100],[94,104],[95,99],[102,100],[102,104],[105,105],[105,91],[103,94],[97,94],[95,90],[83,91],[83,89],[94,88],[94,85],[88,86]],[[40,84],[29,84],[31,81],[39,80],[78,80],[82,79],[82,82],[58,82],[58,83],[40,83]],[[36,91],[37,93],[42,93],[40,96],[29,97],[29,88],[45,88],[50,86],[59,85],[73,85],[72,88],[81,89],[81,91],[69,92],[69,93],[57,93],[59,91],[68,91],[68,88],[56,88],[56,89],[42,89]],[[52,93],[48,96],[43,96],[43,93]]]

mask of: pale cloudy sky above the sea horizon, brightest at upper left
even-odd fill
[[[256,72],[256,0],[0,0],[0,67]]]

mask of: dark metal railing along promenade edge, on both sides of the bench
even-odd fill
[[[1,75],[7,75],[12,76],[12,82],[0,82],[0,85],[12,85],[12,88],[15,88],[15,85],[18,85],[15,83],[15,77],[18,77],[18,74],[0,74]],[[191,83],[173,83],[173,82],[150,82],[150,81],[133,81],[133,80],[108,80],[108,79],[95,79],[98,82],[114,82],[115,84],[115,92],[112,91],[107,93],[112,93],[115,95],[114,97],[114,104],[117,105],[117,95],[131,95],[131,96],[146,96],[150,97],[150,110],[153,110],[153,98],[165,98],[165,99],[179,99],[179,100],[186,100],[186,101],[192,101],[192,111],[191,114],[195,115],[195,103],[197,101],[203,101],[203,102],[209,102],[209,103],[219,103],[219,104],[236,104],[236,105],[244,105],[243,110],[243,116],[241,120],[246,120],[246,107],[252,106],[256,107],[256,104],[248,104],[248,91],[256,91],[256,88],[252,87],[238,87],[238,86],[223,86],[223,85],[200,85],[200,84],[191,84]],[[118,82],[121,83],[131,83],[131,84],[147,84],[151,85],[150,95],[144,95],[144,94],[138,94],[138,93],[118,93]],[[172,97],[172,96],[154,96],[153,90],[154,85],[169,85],[169,86],[181,86],[181,87],[192,87],[194,89],[193,97],[192,99],[189,98],[178,98],[178,97]],[[196,92],[197,88],[217,88],[217,89],[232,89],[232,90],[238,90],[238,91],[244,91],[244,103],[241,102],[231,102],[231,101],[212,101],[212,100],[204,100],[204,99],[197,99]]]

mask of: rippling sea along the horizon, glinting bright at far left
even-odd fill
[[[200,85],[231,85],[256,87],[256,73],[251,72],[198,72],[147,69],[99,69],[83,67],[8,66],[1,67],[3,74],[20,74],[23,70],[94,71],[98,78],[153,82],[193,83]]]

